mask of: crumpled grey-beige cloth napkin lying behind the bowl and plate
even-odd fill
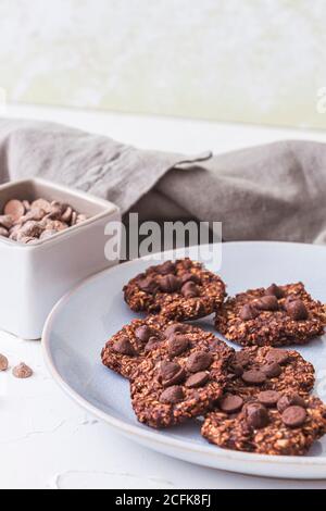
[[[0,180],[32,176],[109,199],[141,220],[223,222],[227,241],[326,244],[324,144],[185,157],[57,124],[0,120]]]

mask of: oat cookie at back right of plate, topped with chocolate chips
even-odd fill
[[[217,311],[215,326],[241,346],[304,345],[324,334],[326,309],[302,283],[252,289]]]

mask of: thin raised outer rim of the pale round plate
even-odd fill
[[[298,244],[298,242],[289,242],[289,241],[228,241],[228,242],[225,242],[223,245],[227,245],[227,246],[230,246],[230,245],[236,245],[236,246],[239,246],[239,245],[247,245],[247,246],[248,245],[269,245],[269,246],[272,246],[272,245],[274,245],[274,246],[275,245],[281,245],[281,246],[285,246],[285,245],[287,245],[287,246],[302,246],[302,247],[308,247],[308,248],[311,248],[311,249],[314,249],[314,250],[322,250],[322,251],[325,250],[326,251],[326,247],[324,247],[324,246],[311,245],[311,244]],[[277,465],[281,465],[281,466],[287,465],[287,466],[296,468],[299,464],[299,465],[312,465],[314,468],[317,468],[317,466],[326,468],[326,456],[317,458],[317,457],[309,457],[309,456],[287,457],[287,456],[256,454],[256,453],[252,453],[252,452],[240,452],[240,451],[233,451],[233,450],[227,450],[227,449],[222,449],[222,448],[216,448],[216,447],[214,448],[213,446],[210,446],[209,444],[208,444],[208,446],[202,445],[202,444],[198,444],[198,445],[189,444],[189,441],[187,441],[187,440],[171,438],[170,436],[162,436],[160,434],[160,431],[151,429],[150,427],[146,428],[142,425],[138,425],[138,424],[136,424],[136,425],[128,424],[125,421],[123,421],[121,419],[116,419],[116,417],[110,415],[109,413],[100,410],[95,404],[89,402],[86,398],[84,398],[82,395],[79,395],[73,387],[70,386],[70,384],[67,384],[65,382],[63,376],[61,376],[59,370],[55,366],[52,354],[51,354],[50,333],[51,333],[52,324],[54,323],[58,315],[60,314],[60,311],[64,308],[65,303],[67,301],[70,301],[71,297],[76,295],[79,291],[80,288],[86,287],[92,281],[96,281],[97,278],[100,278],[103,275],[117,272],[117,271],[121,270],[121,267],[125,267],[125,265],[131,266],[131,265],[135,265],[135,264],[139,263],[140,261],[148,261],[148,260],[150,260],[150,261],[153,260],[154,261],[159,257],[160,257],[160,259],[162,258],[164,260],[165,258],[166,259],[171,258],[172,254],[174,254],[174,257],[175,257],[177,254],[177,250],[174,250],[174,251],[170,250],[170,251],[165,251],[165,252],[159,252],[156,254],[145,256],[145,257],[135,259],[133,261],[127,261],[123,264],[117,264],[117,265],[112,266],[110,269],[106,269],[102,272],[96,273],[96,274],[87,277],[85,281],[80,282],[77,286],[72,288],[68,292],[66,292],[57,302],[57,304],[53,307],[53,309],[51,310],[51,312],[50,312],[50,314],[49,314],[49,316],[46,321],[46,324],[45,324],[45,327],[43,327],[43,331],[42,331],[42,337],[41,337],[42,357],[43,357],[46,366],[49,370],[49,372],[50,372],[52,378],[54,379],[54,382],[57,383],[57,385],[59,385],[59,387],[64,391],[64,394],[66,394],[79,407],[87,410],[89,413],[91,413],[96,417],[100,419],[105,424],[113,427],[114,429],[116,429],[121,434],[123,434],[125,436],[131,436],[131,437],[139,438],[139,441],[150,440],[151,445],[154,443],[154,444],[160,444],[162,446],[168,446],[170,448],[175,447],[175,448],[178,448],[179,450],[188,451],[188,452],[190,452],[192,454],[197,454],[199,457],[204,453],[205,456],[216,458],[216,459],[221,460],[222,462],[223,462],[223,460],[225,460],[226,462],[233,462],[233,461],[237,462],[238,461],[238,462],[242,462],[242,463],[246,462],[246,461],[250,461],[250,462],[253,462],[254,464],[266,464],[266,463],[268,463],[268,464],[273,464],[275,466],[277,466]],[[171,456],[171,454],[167,454],[167,456]],[[197,464],[202,465],[202,466],[208,466],[205,463],[201,463],[201,462],[199,462]],[[221,469],[221,470],[223,470],[223,469]],[[231,470],[228,470],[228,471],[231,471]],[[237,471],[231,471],[231,472],[237,473]],[[274,477],[279,477],[279,475],[274,476]],[[287,476],[287,477],[289,477],[289,476]],[[293,477],[299,478],[298,475],[293,475]],[[308,474],[306,477],[309,477],[309,474]],[[302,478],[302,477],[300,477],[300,478]],[[314,478],[317,478],[317,477],[314,476]],[[325,479],[325,478],[326,477],[324,477],[324,476],[321,477],[321,479]]]

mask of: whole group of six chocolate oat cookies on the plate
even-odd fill
[[[304,454],[326,433],[326,406],[311,392],[313,365],[290,345],[324,334],[326,310],[303,284],[271,285],[226,299],[218,275],[189,259],[149,267],[124,288],[135,312],[102,362],[130,382],[137,419],[166,428],[202,419],[218,447]],[[215,314],[216,331],[185,323]]]

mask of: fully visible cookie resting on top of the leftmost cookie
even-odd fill
[[[133,375],[131,402],[138,420],[164,428],[208,412],[223,394],[233,352],[220,339],[172,335]]]

